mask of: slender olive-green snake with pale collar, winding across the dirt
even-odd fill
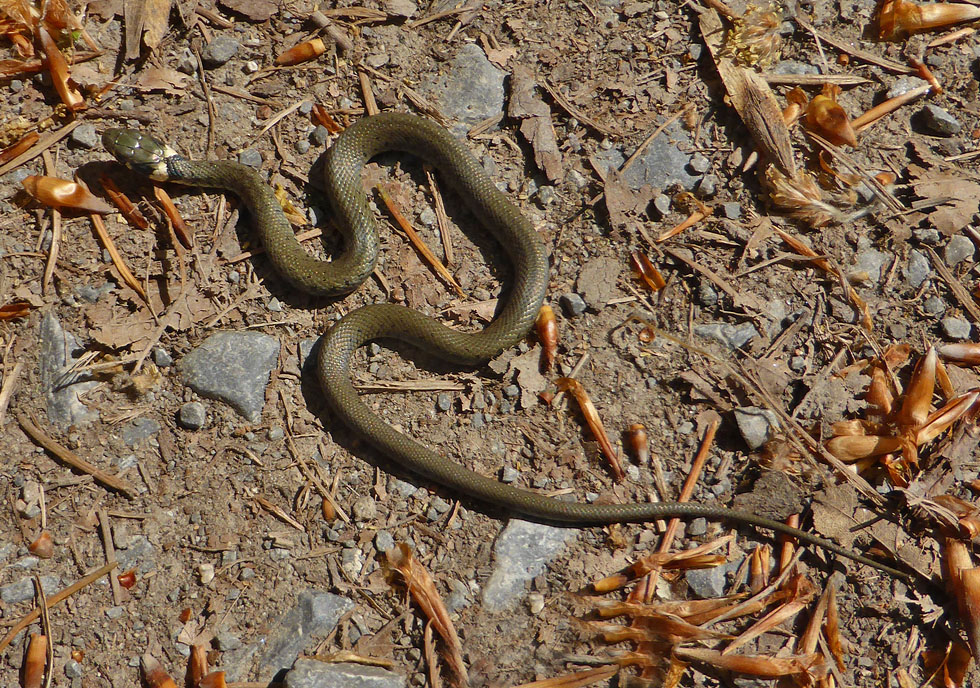
[[[395,430],[354,388],[354,353],[376,339],[395,339],[461,366],[479,366],[519,343],[544,302],[549,280],[544,242],[523,213],[501,192],[467,147],[435,122],[406,113],[363,117],[327,150],[324,188],[343,235],[342,252],[320,260],[299,243],[272,189],[258,172],[222,160],[188,160],[140,130],[108,129],[104,147],[120,162],[157,181],[210,187],[236,194],[248,212],[275,270],[290,285],[316,296],[356,289],[377,264],[377,223],[361,172],[384,152],[407,153],[435,168],[502,245],[514,268],[513,285],[482,331],[461,332],[405,306],[378,303],[354,309],[322,337],[316,370],[334,417],[402,469],[491,507],[538,522],[590,527],[666,518],[705,518],[746,524],[822,548],[891,576],[909,575],[837,543],[780,521],[698,502],[619,504],[565,501],[489,478]]]

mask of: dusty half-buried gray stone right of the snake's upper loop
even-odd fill
[[[674,122],[650,142],[643,154],[623,175],[623,180],[634,190],[644,185],[655,189],[666,189],[677,184],[691,191],[701,175],[688,170],[691,156],[681,148],[694,148],[691,135],[679,122]],[[599,150],[594,156],[596,162],[608,170],[618,170],[626,162],[626,156],[618,148]]]

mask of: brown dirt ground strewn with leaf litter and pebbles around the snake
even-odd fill
[[[327,233],[317,160],[320,138],[331,137],[316,129],[309,104],[323,106],[344,125],[364,113],[367,85],[383,110],[431,115],[426,110],[434,109],[454,133],[469,132],[468,146],[548,246],[548,300],[560,332],[556,370],[539,373],[540,345],[533,335],[478,370],[460,371],[424,352],[365,350],[358,383],[409,383],[408,391],[370,394],[389,422],[484,474],[512,471],[516,485],[625,502],[657,493],[653,463],[638,461],[624,446],[629,426],[646,427],[668,488],[659,498],[673,500],[706,429],[720,417],[692,500],[765,510],[781,496],[766,477],[776,469],[803,494],[802,527],[848,546],[874,545],[879,554],[897,551],[907,565],[939,580],[942,534],[912,507],[937,494],[973,503],[969,488],[978,462],[972,426],[955,426],[952,438],[944,435],[922,448],[905,485],[881,466],[864,466],[873,491],[886,499],[880,505],[864,500],[861,511],[852,483],[835,479],[825,458],[799,448],[788,459],[750,449],[751,433],[737,419],[768,408],[778,413],[760,416],[764,427],[769,419],[779,425],[776,415],[788,414],[798,430],[827,438],[834,423],[865,417],[866,410],[861,399],[868,378],[859,374],[860,366],[845,377],[835,373],[891,345],[908,344],[909,361],[894,371],[906,384],[911,363],[930,344],[975,340],[976,34],[927,49],[925,43],[941,34],[868,41],[870,3],[815,0],[799,11],[822,37],[818,41],[793,12],[779,10],[774,33],[781,55],[760,69],[783,75],[772,79],[781,105],[797,84],[811,99],[820,93],[819,79],[808,81],[807,75],[856,77],[839,96],[856,117],[911,78],[894,68],[909,64],[903,53],[908,46],[909,52],[924,49],[924,62],[943,87],[941,94],[885,116],[846,149],[856,170],[894,175],[888,187],[899,208],[851,192],[836,221],[812,228],[768,201],[753,140],[726,102],[699,29],[705,8],[696,3],[528,0],[444,15],[437,13],[456,5],[327,3],[319,9],[350,41],[349,49],[325,37],[318,58],[283,68],[272,67],[276,56],[315,30],[307,17],[318,8],[303,0],[278,7],[235,0],[196,9],[178,1],[162,22],[146,17],[147,30],[158,30],[155,46],[144,44],[130,57],[121,0],[73,9],[104,51],[74,68],[90,105],[77,115],[80,126],[93,125],[98,133],[138,123],[190,157],[251,161],[284,187],[301,216],[315,217]],[[217,37],[237,45],[230,58],[209,52]],[[78,46],[87,50],[81,40]],[[4,50],[12,57],[12,48]],[[484,83],[497,72],[497,81]],[[116,85],[104,89],[112,80]],[[95,102],[89,87],[104,89],[102,99]],[[6,78],[3,88],[8,133],[25,122],[28,129],[37,126],[57,102],[44,75]],[[466,112],[462,101],[487,111]],[[927,103],[942,112],[925,111]],[[495,121],[474,129],[488,119]],[[792,128],[792,145],[800,168],[816,174],[815,145],[799,125]],[[610,164],[622,166],[635,152],[640,156],[627,171],[610,171]],[[390,184],[422,238],[443,257],[429,219],[425,170],[404,156],[385,156],[381,163],[368,176]],[[457,507],[452,493],[374,455],[332,422],[315,379],[302,368],[312,338],[367,303],[399,302],[454,326],[482,326],[512,277],[498,247],[471,229],[477,223],[452,194],[447,210],[460,229],[450,233],[454,256],[448,262],[464,296],[433,276],[379,211],[385,226],[376,276],[346,298],[324,301],[290,290],[261,254],[245,253],[257,246],[247,215],[237,222],[233,196],[167,187],[193,239],[191,248],[178,252],[149,183],[121,171],[84,136],[66,135],[51,143],[46,156],[3,171],[0,305],[26,301],[30,308],[25,317],[0,322],[2,389],[12,392],[2,416],[0,478],[8,508],[0,518],[0,541],[8,545],[0,546],[0,586],[34,574],[54,576],[51,594],[103,565],[110,541],[135,557],[127,561],[136,567],[132,588],[110,589],[104,577],[52,609],[54,685],[134,685],[147,651],[181,676],[187,640],[200,632],[224,639],[210,645],[212,663],[220,667],[225,650],[261,641],[304,590],[332,592],[355,604],[335,630],[304,647],[306,654],[350,650],[379,657],[410,685],[426,685],[424,623],[403,589],[386,579],[378,551],[390,540],[412,543],[440,593],[455,596],[454,620],[472,685],[517,685],[582,670],[608,656],[610,647],[578,623],[592,605],[577,594],[654,551],[659,524],[581,531],[526,584],[529,595],[521,594],[507,610],[488,611],[480,591],[499,566],[494,541],[507,514],[468,501]],[[144,285],[148,305],[123,283],[84,214],[57,220],[59,253],[50,283],[43,284],[55,227],[51,211],[21,190],[26,174],[79,174],[98,193],[99,175],[109,174],[131,198],[142,199],[150,230],[128,228],[119,215],[108,216],[107,224]],[[698,209],[679,196],[684,187],[713,214],[672,239],[653,241]],[[855,212],[860,210],[867,212]],[[840,277],[801,257],[777,230],[801,237]],[[338,244],[326,243],[326,250]],[[325,250],[318,239],[306,246]],[[666,278],[665,288],[651,292],[632,276],[633,252],[649,256]],[[862,327],[848,285],[867,304],[870,330]],[[43,323],[50,316],[77,338],[72,357],[78,365],[90,366],[91,382],[81,396],[87,415],[62,425],[48,416],[50,381],[39,371]],[[651,340],[645,324],[678,341]],[[218,331],[263,333],[281,344],[254,420],[193,392],[181,378],[184,357]],[[134,374],[144,352],[148,356]],[[613,479],[575,404],[542,400],[573,368],[628,466],[622,482]],[[950,380],[956,393],[980,385],[966,367],[956,368]],[[196,430],[179,419],[193,402],[205,410]],[[937,397],[935,405],[940,403]],[[32,441],[20,417],[33,418],[60,444],[125,480],[133,494],[66,467]],[[777,434],[799,439],[783,420],[785,430]],[[389,480],[391,472],[423,489]],[[317,483],[349,520],[324,519]],[[44,523],[32,501],[43,502]],[[876,514],[885,521],[871,536],[848,532]],[[53,538],[54,552],[37,560],[27,546],[42,528]],[[724,524],[699,524],[686,536],[682,530],[673,547],[728,532]],[[771,542],[762,531],[736,532],[734,543],[721,550],[734,562],[726,592],[739,589],[734,572],[745,555]],[[839,685],[922,685],[935,658],[925,653],[945,652],[954,641],[962,645],[966,635],[956,604],[941,586],[907,585],[843,560],[835,565],[817,551],[803,554],[799,570],[819,594],[835,566],[846,570],[836,588],[844,643],[843,663],[835,669]],[[657,592],[694,596],[689,578],[677,572],[664,574]],[[30,609],[29,599],[0,603],[0,633]],[[796,617],[753,641],[748,652],[775,657],[794,651],[806,619]],[[737,633],[747,623],[723,628]],[[31,632],[38,632],[36,624]],[[16,681],[24,642],[18,638],[4,651],[0,684]],[[634,647],[624,642],[616,649]],[[669,647],[658,643],[650,652],[656,668],[648,685],[661,685]],[[71,661],[79,666],[66,667]],[[695,666],[681,685],[770,683],[738,678],[710,663]],[[903,672],[911,683],[898,682]],[[627,675],[635,673],[624,672],[608,685],[634,685]],[[249,685],[270,679],[247,668],[236,678],[258,682]]]

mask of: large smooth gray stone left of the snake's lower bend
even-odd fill
[[[184,384],[257,423],[279,358],[279,340],[260,332],[218,332],[180,362]]]

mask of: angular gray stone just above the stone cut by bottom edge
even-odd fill
[[[312,648],[315,639],[332,631],[353,608],[350,600],[327,592],[301,593],[296,606],[279,618],[267,638],[258,641],[263,646],[259,674],[274,676],[289,669],[300,652]]]

